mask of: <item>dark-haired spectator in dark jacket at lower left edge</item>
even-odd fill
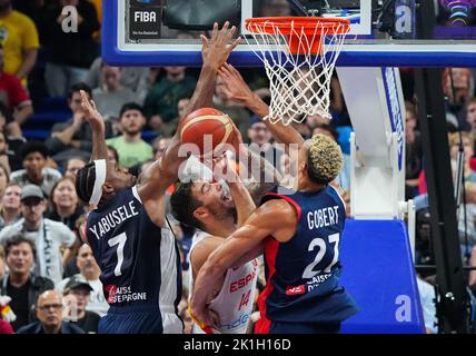
[[[12,236],[6,244],[9,271],[0,283],[0,295],[12,298],[10,307],[17,315],[12,323],[16,330],[36,319],[32,312],[38,296],[54,287],[51,279],[31,271],[36,254],[34,243],[23,234]]]

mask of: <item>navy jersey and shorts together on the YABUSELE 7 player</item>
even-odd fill
[[[170,229],[151,221],[137,187],[92,210],[86,231],[110,305],[99,333],[181,333],[178,247]]]

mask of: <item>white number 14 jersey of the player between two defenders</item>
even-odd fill
[[[190,253],[195,246],[210,235],[199,231],[194,235]],[[258,279],[258,260],[254,259],[236,268],[229,268],[225,276],[220,291],[210,303],[220,318],[221,334],[245,334],[252,313],[256,281]],[[190,290],[194,290],[192,268],[189,268]],[[194,334],[204,334],[201,328],[194,324]]]

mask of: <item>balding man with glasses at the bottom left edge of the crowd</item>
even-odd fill
[[[36,309],[39,320],[23,326],[18,334],[85,334],[78,326],[63,322],[63,299],[59,291],[43,291]]]

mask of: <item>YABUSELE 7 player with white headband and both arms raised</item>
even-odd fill
[[[184,117],[211,103],[218,69],[239,42],[231,41],[235,31],[226,22],[220,31],[215,24],[211,40],[202,37],[204,66]],[[78,171],[76,189],[81,200],[97,207],[88,216],[86,236],[111,306],[99,323],[99,333],[181,333],[177,314],[180,260],[165,214],[165,192],[186,159],[178,155],[179,136],[136,185],[136,177],[107,160],[102,117],[81,95],[92,129],[93,161]]]

